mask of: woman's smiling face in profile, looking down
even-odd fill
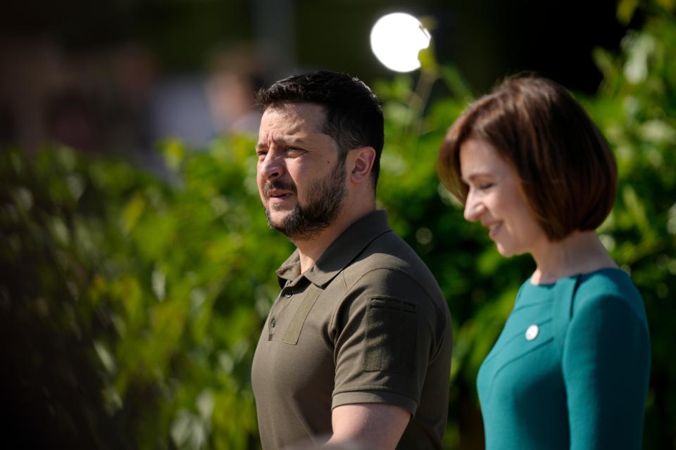
[[[532,253],[549,242],[520,191],[514,170],[492,145],[465,141],[460,147],[460,169],[469,186],[465,219],[481,221],[501,255]]]

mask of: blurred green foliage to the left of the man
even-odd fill
[[[67,148],[3,155],[3,328],[30,341],[8,378],[91,424],[54,426],[72,446],[255,448],[251,358],[291,245],[265,224],[251,139],[164,148],[170,183]]]

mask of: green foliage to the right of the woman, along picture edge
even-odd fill
[[[605,81],[587,103],[615,149],[620,173],[618,201],[603,237],[631,271],[648,312],[653,364],[644,446],[649,449],[676,448],[675,39],[676,19],[661,10],[625,37],[622,56],[598,51]]]

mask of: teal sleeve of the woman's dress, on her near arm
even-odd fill
[[[615,295],[584,299],[565,335],[562,366],[570,448],[640,449],[650,341],[630,302]]]

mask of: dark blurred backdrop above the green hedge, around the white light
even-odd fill
[[[475,94],[523,71],[593,94],[592,50],[617,51],[627,31],[615,10],[582,0],[4,1],[0,145],[56,141],[158,167],[152,148],[168,136],[205,146],[255,133],[251,93],[262,84],[317,69],[391,79],[369,36],[396,11],[430,27],[439,63]],[[432,98],[448,94],[437,84]]]

